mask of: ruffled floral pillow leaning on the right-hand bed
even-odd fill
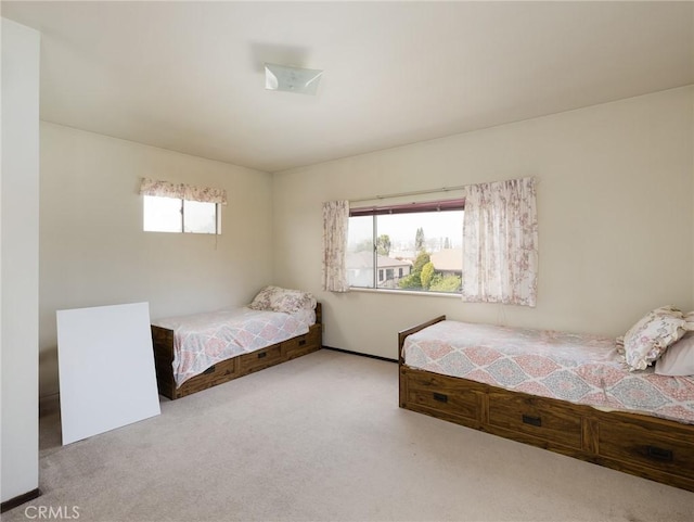
[[[625,358],[630,370],[645,370],[684,335],[684,315],[672,305],[642,317],[625,334]]]

